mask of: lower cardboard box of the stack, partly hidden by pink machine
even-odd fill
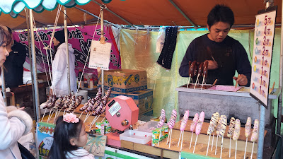
[[[132,93],[120,93],[120,92],[111,91],[108,101],[112,100],[112,98],[119,95],[125,95],[129,98],[132,98],[136,103],[137,107],[139,107],[139,114],[143,114],[144,112],[151,110],[153,107],[154,91],[151,89],[139,90]]]

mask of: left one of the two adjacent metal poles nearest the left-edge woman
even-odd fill
[[[29,22],[28,22],[28,17],[30,17],[30,14],[29,12],[27,11],[26,12],[26,16],[25,16],[25,19],[26,19],[26,23],[27,23],[27,28],[28,30],[30,30],[30,25],[29,25]],[[34,112],[34,117],[36,119],[36,106],[35,106],[35,86],[33,86],[33,63],[31,61],[31,52],[30,52],[30,32],[28,31],[28,57],[30,58],[30,77],[31,77],[31,83],[32,83],[32,88],[33,88],[33,112]],[[48,82],[48,81],[47,81]]]

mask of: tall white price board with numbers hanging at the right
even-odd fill
[[[259,11],[258,13],[255,16],[250,96],[267,108],[277,6],[271,11]]]

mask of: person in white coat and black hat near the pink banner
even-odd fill
[[[52,63],[52,86],[50,87],[50,95],[68,94],[68,76],[67,76],[67,52],[69,47],[69,70],[71,91],[76,92],[76,73],[75,73],[75,55],[71,44],[65,43],[64,30],[54,33],[54,51],[55,57]]]

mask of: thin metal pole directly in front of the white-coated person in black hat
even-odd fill
[[[70,65],[69,65],[69,46],[68,46],[68,28],[67,28],[67,11],[66,6],[64,6],[64,30],[65,30],[65,43],[66,47],[66,54],[67,54],[67,76],[68,76],[68,94],[71,93],[71,83],[70,83]]]

